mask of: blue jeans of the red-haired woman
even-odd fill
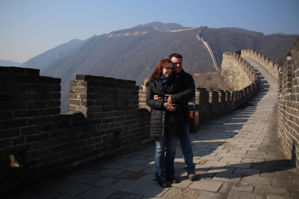
[[[179,137],[172,137],[169,130],[165,130],[164,138],[156,138],[156,180],[164,181],[175,174],[176,145]]]

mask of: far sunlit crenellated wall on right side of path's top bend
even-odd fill
[[[277,80],[279,78],[279,73],[282,70],[282,66],[278,63],[275,63],[270,58],[266,57],[266,55],[255,51],[253,49],[246,49],[241,50],[241,56],[242,57],[249,57],[253,59],[254,61],[257,61],[260,63],[273,77],[275,77]]]

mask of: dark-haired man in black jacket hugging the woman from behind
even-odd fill
[[[166,95],[168,96],[167,102],[165,104],[165,108],[168,111],[175,111],[176,108],[173,106],[174,103],[177,102],[185,102],[188,103],[189,100],[191,100],[195,95],[195,83],[193,77],[186,73],[183,70],[183,57],[180,54],[174,53],[171,54],[168,59],[170,59],[174,63],[174,72],[180,77],[181,82],[183,84],[183,92],[175,94],[175,95]],[[158,98],[158,96],[155,96],[155,99],[161,99]],[[186,108],[182,110],[183,115],[183,123],[184,123],[184,130],[185,130],[185,136],[179,137],[180,145],[182,148],[184,160],[185,160],[185,169],[188,174],[188,179],[191,181],[196,181],[197,176],[195,173],[195,164],[193,163],[193,149],[190,142],[189,137],[189,106],[186,105]]]

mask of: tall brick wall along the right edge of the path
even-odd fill
[[[287,152],[299,165],[299,37],[279,75],[277,119]]]

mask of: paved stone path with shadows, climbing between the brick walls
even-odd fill
[[[201,123],[191,134],[197,181],[186,178],[178,145],[180,183],[161,188],[155,178],[154,143],[33,185],[8,198],[299,198],[299,172],[277,134],[277,81],[247,59],[260,91],[244,106]]]

